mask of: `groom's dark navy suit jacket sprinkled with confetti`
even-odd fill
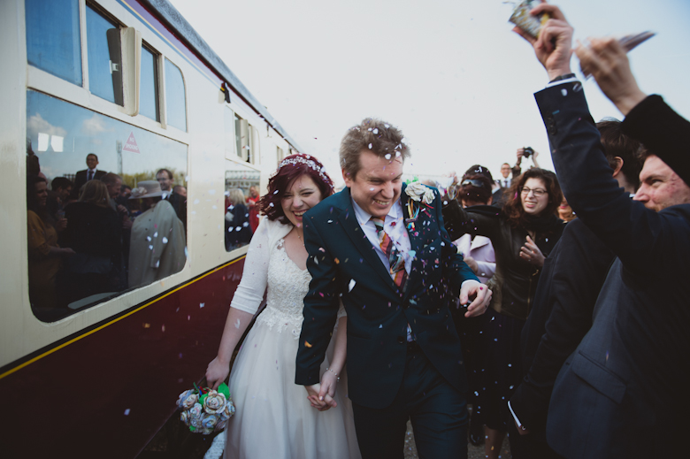
[[[409,218],[405,195],[404,218]],[[477,279],[457,254],[443,227],[441,198],[421,206],[414,230],[416,252],[404,291],[393,282],[357,222],[349,188],[332,195],[304,217],[307,268],[312,280],[304,298],[304,322],[295,382],[319,382],[339,308],[348,313],[348,396],[365,407],[390,405],[403,381],[410,324],[419,347],[444,379],[463,394],[466,377],[460,340],[449,310],[466,279]]]

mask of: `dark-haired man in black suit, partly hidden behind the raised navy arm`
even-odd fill
[[[640,185],[640,142],[623,134],[621,125],[610,119],[596,126],[613,178],[633,194]],[[563,362],[592,326],[594,303],[615,257],[582,219],[576,218],[565,226],[544,262],[521,334],[525,379],[509,403],[517,425],[525,427],[517,433],[529,432],[519,442],[526,456],[556,457],[546,442],[551,391]]]

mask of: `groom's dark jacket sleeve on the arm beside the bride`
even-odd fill
[[[309,218],[311,220],[311,216]],[[319,369],[331,340],[340,301],[334,281],[337,276],[336,260],[325,249],[326,245],[312,221],[304,224],[304,247],[309,253],[307,269],[311,282],[309,292],[304,297],[304,321],[297,350],[295,384],[311,386],[320,381]]]

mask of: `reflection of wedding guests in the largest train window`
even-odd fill
[[[186,262],[187,189],[157,172],[132,188],[115,173],[88,168],[71,180],[42,174],[27,149],[29,299],[42,320],[104,301],[180,272]],[[165,189],[164,189],[165,187]]]

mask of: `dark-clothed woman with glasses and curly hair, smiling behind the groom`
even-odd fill
[[[515,432],[508,400],[523,377],[520,332],[529,315],[544,260],[563,233],[556,210],[563,199],[556,174],[532,168],[513,180],[502,208],[463,209],[449,200],[443,209],[453,240],[464,233],[487,236],[494,245],[496,271],[487,286],[494,292],[484,314],[477,352],[484,368],[474,409],[486,425],[485,452],[497,458],[505,433]],[[513,457],[519,457],[517,432],[510,435]]]

